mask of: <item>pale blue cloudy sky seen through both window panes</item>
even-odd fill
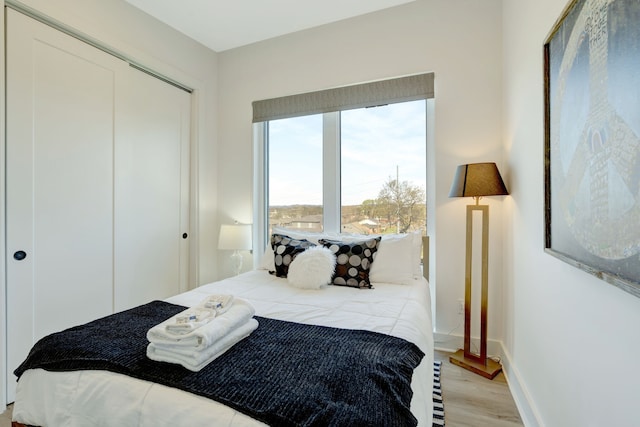
[[[374,199],[390,178],[426,189],[426,102],[341,113],[342,204]],[[322,115],[269,122],[269,204],[322,204]]]

